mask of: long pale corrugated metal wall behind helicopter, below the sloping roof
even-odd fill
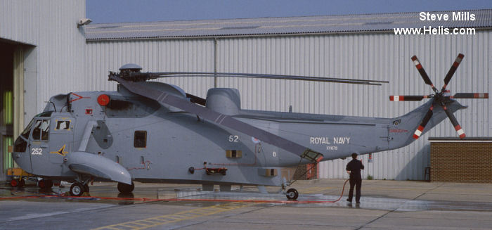
[[[430,94],[410,57],[417,55],[436,86],[458,53],[464,53],[460,68],[448,89],[456,92],[491,92],[491,31],[468,36],[396,36],[394,34],[333,34],[296,37],[245,37],[218,39],[219,72],[251,72],[285,75],[347,77],[388,80],[382,87],[349,84],[291,82],[273,79],[219,78],[218,87],[240,90],[242,108],[256,110],[369,117],[396,117],[420,102],[390,102],[389,95]],[[89,41],[90,90],[114,89],[106,81],[108,70],[124,63],[138,63],[144,71],[213,71],[214,41],[211,39]],[[167,79],[186,91],[205,96],[213,79]],[[467,110],[455,113],[467,136],[490,136],[492,100],[461,99]],[[442,122],[410,146],[373,154],[363,177],[375,179],[423,179],[429,165],[429,136],[456,136],[451,122]],[[322,162],[322,178],[347,178],[349,160]]]

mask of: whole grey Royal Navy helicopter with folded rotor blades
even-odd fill
[[[117,181],[121,193],[133,181],[202,184],[231,191],[232,185],[281,186],[289,199],[296,189],[281,167],[346,158],[401,148],[447,117],[464,138],[453,113],[465,108],[453,98],[488,98],[488,94],[455,94],[446,86],[460,54],[438,91],[419,60],[418,72],[434,94],[390,96],[391,101],[427,103],[401,117],[349,117],[281,113],[240,108],[237,89],[209,89],[206,98],[187,94],[160,77],[254,77],[378,85],[381,81],[216,72],[141,72],[135,64],[110,72],[117,91],[85,91],[51,97],[15,141],[13,158],[23,170],[53,181],[73,182],[72,196],[89,191],[89,181]]]

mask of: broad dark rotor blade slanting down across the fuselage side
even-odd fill
[[[289,141],[281,136],[277,136],[270,132],[266,132],[263,129],[259,129],[252,126],[251,124],[241,122],[240,120],[236,120],[235,118],[228,115],[218,113],[206,107],[195,105],[194,103],[183,100],[183,98],[180,98],[179,96],[168,94],[160,89],[145,87],[145,85],[139,82],[127,81],[114,73],[109,75],[109,79],[119,82],[119,84],[122,84],[123,87],[127,88],[134,94],[145,96],[146,98],[153,99],[161,104],[180,108],[181,110],[185,110],[188,113],[196,114],[216,124],[221,124],[238,132],[242,132],[243,134],[254,136],[261,141],[265,141],[266,143],[270,143],[273,146],[282,148],[285,151],[289,151],[291,153],[299,155],[301,158],[306,158],[313,162],[319,161],[323,158],[323,154],[312,151],[311,149],[301,146],[298,143]]]

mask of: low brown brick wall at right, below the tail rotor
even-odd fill
[[[492,143],[431,141],[431,181],[492,183]]]

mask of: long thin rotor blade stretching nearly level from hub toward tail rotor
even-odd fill
[[[344,79],[332,77],[309,77],[294,75],[263,75],[253,73],[236,73],[236,72],[129,72],[128,77],[124,79],[156,79],[161,77],[244,77],[244,78],[264,78],[264,79],[288,79],[311,82],[335,82],[347,84],[368,84],[381,85],[380,83],[389,83],[388,81],[365,80],[365,79]]]

